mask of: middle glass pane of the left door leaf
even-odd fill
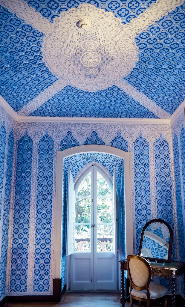
[[[76,198],[75,223],[91,223],[91,198]]]

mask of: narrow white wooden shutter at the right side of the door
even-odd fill
[[[116,255],[116,242],[117,242],[117,235],[116,235],[116,176],[115,176],[115,169],[113,174],[113,193],[112,193],[112,207],[113,207],[113,252]]]

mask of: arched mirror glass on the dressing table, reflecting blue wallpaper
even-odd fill
[[[144,230],[140,255],[145,258],[168,259],[170,231],[161,222],[150,223]]]

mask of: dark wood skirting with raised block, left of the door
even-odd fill
[[[66,284],[62,288],[62,279],[53,279],[53,295],[15,295],[6,296],[0,301],[0,307],[5,303],[21,303],[21,302],[60,302],[66,291]]]

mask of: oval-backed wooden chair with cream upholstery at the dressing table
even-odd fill
[[[152,278],[152,268],[149,262],[138,255],[128,255],[127,270],[130,279],[130,307],[133,306],[133,299],[146,302],[146,306],[150,307],[150,301],[167,295],[168,290],[161,286],[150,283]],[[165,297],[164,307],[167,306],[167,298]]]

